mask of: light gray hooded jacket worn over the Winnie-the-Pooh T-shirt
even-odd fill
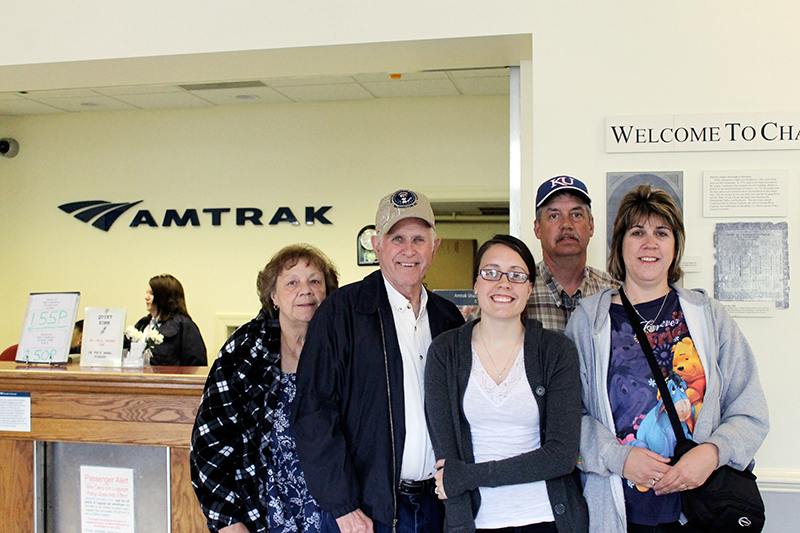
[[[719,464],[743,470],[769,431],[767,401],[756,361],[736,322],[702,290],[673,286],[706,375],[703,407],[692,433],[695,442],[719,449]],[[631,446],[620,444],[608,400],[611,357],[611,297],[607,289],[581,300],[566,334],[578,348],[584,416],[581,428],[583,494],[592,531],[627,531],[622,467]]]

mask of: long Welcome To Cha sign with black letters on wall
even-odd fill
[[[800,149],[800,113],[606,118],[606,152]]]

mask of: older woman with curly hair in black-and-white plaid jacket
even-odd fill
[[[261,312],[217,356],[192,432],[192,484],[211,531],[338,532],[308,493],[289,426],[308,323],[338,285],[305,244],[258,274]]]

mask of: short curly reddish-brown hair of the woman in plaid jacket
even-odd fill
[[[261,308],[269,314],[270,318],[278,318],[278,310],[272,305],[270,297],[275,292],[278,276],[284,270],[294,267],[300,261],[305,261],[317,267],[325,277],[325,292],[330,295],[339,287],[339,272],[328,257],[310,244],[291,244],[278,251],[269,260],[264,270],[256,278],[258,299]]]

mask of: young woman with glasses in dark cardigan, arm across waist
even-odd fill
[[[523,318],[535,273],[519,239],[484,243],[474,265],[481,317],[443,333],[428,351],[425,408],[447,532],[588,529],[571,475],[578,358],[566,337]]]

